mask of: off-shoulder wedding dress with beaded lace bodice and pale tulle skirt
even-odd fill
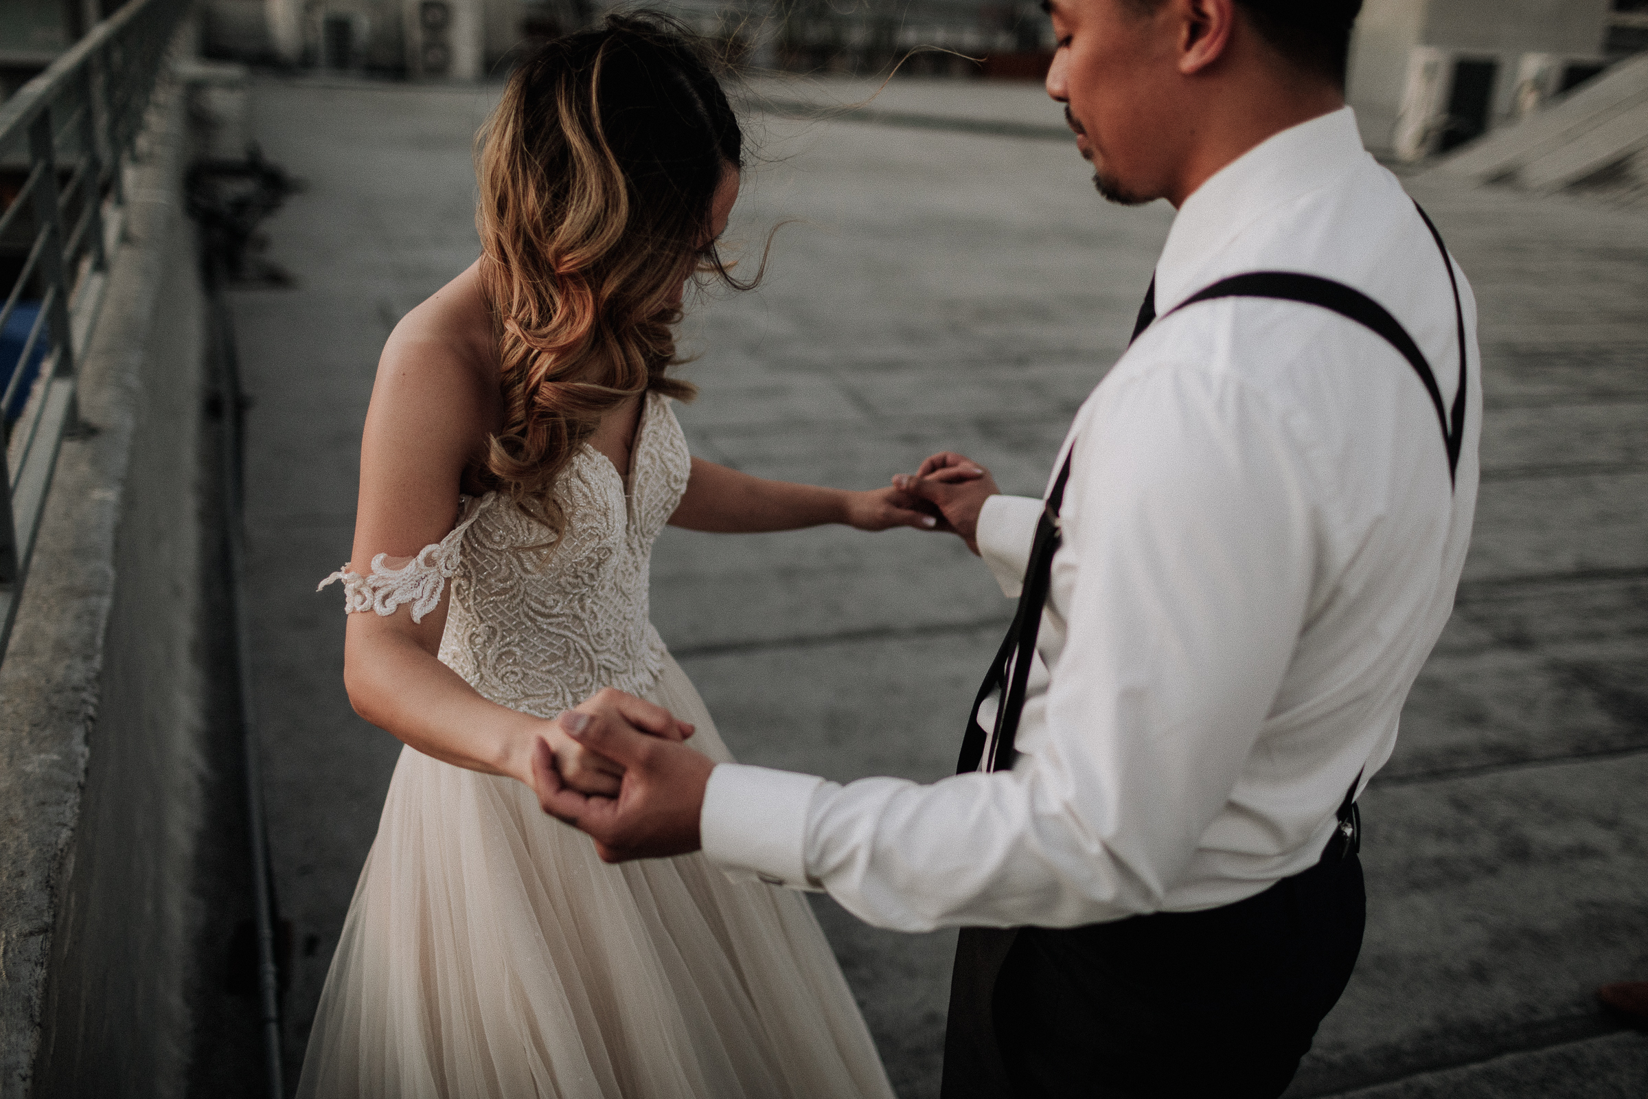
[[[653,540],[686,491],[669,402],[644,402],[626,486],[585,447],[567,531],[465,499],[402,568],[335,573],[351,611],[452,605],[440,659],[493,702],[555,717],[602,687],[697,725],[730,760],[648,620]],[[323,585],[325,587],[325,585]],[[892,1097],[806,901],[702,855],[603,863],[531,789],[400,751],[298,1083],[302,1097]]]

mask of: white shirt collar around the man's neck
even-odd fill
[[[1356,115],[1340,107],[1259,142],[1185,199],[1155,264],[1157,313],[1201,288],[1216,252],[1267,211],[1323,188],[1368,160]]]

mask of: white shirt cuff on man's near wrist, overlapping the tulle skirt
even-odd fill
[[[717,765],[699,816],[704,857],[733,882],[824,888],[806,867],[808,811],[822,784],[814,774]]]

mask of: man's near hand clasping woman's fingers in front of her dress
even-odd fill
[[[618,690],[603,690],[560,717],[560,727],[585,750],[623,768],[616,797],[582,794],[555,769],[542,741],[532,758],[532,788],[549,816],[595,840],[603,862],[661,858],[699,849],[704,788],[715,763],[667,738],[676,718],[662,707]]]

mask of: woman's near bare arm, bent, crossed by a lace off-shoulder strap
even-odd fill
[[[361,438],[348,567],[363,577],[374,555],[386,554],[387,567],[404,565],[452,532],[465,465],[496,415],[485,371],[448,334],[453,313],[463,313],[465,290],[460,278],[409,313],[384,346]],[[488,702],[435,659],[448,600],[450,583],[442,583],[438,603],[419,621],[412,605],[349,615],[343,677],[356,713],[437,760],[527,784],[534,746],[544,740],[569,781],[592,793],[616,791],[616,765],[585,753],[557,722]]]

